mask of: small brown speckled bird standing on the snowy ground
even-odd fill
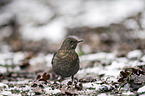
[[[82,41],[77,40],[74,36],[65,38],[61,47],[54,53],[52,58],[51,64],[54,73],[60,75],[62,78],[71,76],[73,82],[74,75],[80,68],[79,56],[75,49],[77,44]]]

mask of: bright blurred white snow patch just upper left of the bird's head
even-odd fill
[[[40,27],[24,26],[21,31],[24,39],[35,41],[47,39],[51,42],[61,41],[66,33],[61,19]]]

